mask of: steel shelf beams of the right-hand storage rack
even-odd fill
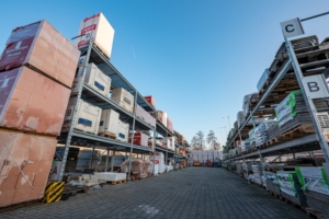
[[[286,47],[286,50],[288,50],[287,46],[292,43],[298,41],[293,39],[288,41],[288,43],[283,44]],[[286,59],[283,61],[279,70],[275,72],[275,77],[268,81],[266,84],[263,87],[265,89],[261,90],[259,92],[259,99],[254,103],[251,103],[251,106],[249,107],[249,113],[246,115],[246,120],[241,126],[238,127],[238,129],[231,135],[231,138],[228,138],[227,146],[226,146],[226,152],[228,152],[229,149],[237,148],[236,140],[245,140],[248,137],[248,131],[252,128],[256,128],[254,117],[258,116],[268,116],[273,117],[274,116],[274,107],[276,104],[279,104],[283,99],[288,95],[288,92],[294,90],[299,90],[302,84],[300,81],[297,80],[295,68],[293,67],[293,59],[296,60],[297,58],[303,58],[304,56],[313,57],[313,61],[303,61],[299,64],[300,69],[303,70],[303,73],[306,76],[309,73],[309,69],[316,69],[321,67],[325,71],[326,69],[329,69],[329,59],[328,59],[329,49],[328,48],[321,48],[314,46],[314,48],[308,47],[307,51],[303,51],[302,54],[288,54]],[[325,56],[322,56],[325,55]],[[293,56],[293,57],[292,57]],[[296,61],[295,61],[296,62]],[[308,70],[308,71],[307,71]],[[319,73],[319,72],[317,72]],[[305,99],[305,96],[304,96]],[[250,126],[249,122],[252,122],[252,125]],[[313,125],[316,126],[315,122],[313,122]],[[225,162],[227,164],[241,161],[246,162],[247,159],[260,159],[260,162],[264,162],[264,157],[276,157],[280,158],[283,154],[293,154],[297,152],[308,152],[310,157],[313,157],[314,150],[320,150],[322,149],[324,154],[326,157],[326,149],[324,149],[319,143],[319,134],[313,132],[308,135],[303,135],[298,138],[291,139],[288,141],[280,141],[274,142],[273,145],[262,145],[260,147],[254,147],[249,150],[246,150],[245,152],[241,152],[239,154],[232,154],[225,159]],[[328,147],[328,142],[326,142]],[[275,160],[275,159],[274,159]],[[263,166],[263,165],[262,165]]]

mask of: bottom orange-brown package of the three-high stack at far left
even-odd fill
[[[56,137],[0,129],[0,207],[44,196],[56,145]]]

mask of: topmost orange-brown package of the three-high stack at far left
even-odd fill
[[[0,58],[0,71],[29,64],[71,88],[80,51],[47,21],[12,31]]]

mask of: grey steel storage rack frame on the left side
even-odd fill
[[[156,123],[156,127],[151,127],[149,124],[144,122],[144,119],[137,117],[135,113],[128,112],[127,110],[123,108],[118,104],[114,103],[107,96],[102,95],[101,93],[95,91],[92,87],[84,83],[84,78],[88,68],[87,66],[88,64],[93,62],[94,65],[98,66],[99,69],[103,71],[104,74],[111,78],[112,80],[111,90],[117,88],[124,88],[126,91],[128,91],[131,94],[134,95],[135,104],[138,104],[147,112],[156,112],[156,108],[144,99],[144,96],[114,68],[114,66],[112,66],[112,64],[109,61],[106,56],[104,56],[102,51],[99,50],[99,48],[94,44],[90,43],[88,48],[81,49],[81,57],[82,56],[86,56],[84,64],[82,67],[83,68],[82,76],[81,76],[82,82],[79,85],[78,93],[71,94],[71,96],[77,97],[77,102],[72,110],[72,118],[70,122],[70,126],[66,132],[61,132],[61,135],[58,137],[58,143],[65,145],[58,182],[63,181],[63,175],[65,172],[67,155],[70,146],[92,148],[92,151],[94,151],[95,149],[107,150],[107,159],[109,159],[110,150],[114,152],[115,151],[126,152],[126,154],[127,152],[129,152],[129,171],[128,171],[128,180],[129,180],[131,168],[132,168],[132,154],[141,153],[141,154],[150,155],[150,153],[155,152],[157,149],[156,137],[158,136],[158,132],[163,137],[167,136],[170,137],[173,136],[173,134],[170,132],[158,120]],[[75,124],[76,120],[78,119],[78,110],[81,100],[87,101],[88,103],[95,105],[102,110],[114,110],[115,112],[117,112],[120,114],[120,119],[129,124],[129,130],[133,130],[132,139],[134,139],[135,131],[139,131],[139,130],[151,131],[154,135],[154,143],[152,143],[154,147],[149,148],[144,146],[135,146],[133,145],[134,140],[132,140],[132,142],[129,143],[129,142],[124,142],[124,141],[75,129],[72,124]],[[168,153],[171,154],[172,152],[166,150],[166,159],[168,158]],[[105,171],[107,171],[107,159],[106,159]]]

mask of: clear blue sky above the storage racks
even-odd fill
[[[280,22],[329,11],[328,0],[2,0],[0,49],[11,30],[47,20],[67,38],[103,12],[115,30],[111,62],[143,95],[154,95],[188,140],[213,129],[222,141],[242,97],[283,42]],[[329,36],[329,15],[304,22]],[[228,130],[228,128],[227,128]],[[225,138],[225,137],[224,137]]]

